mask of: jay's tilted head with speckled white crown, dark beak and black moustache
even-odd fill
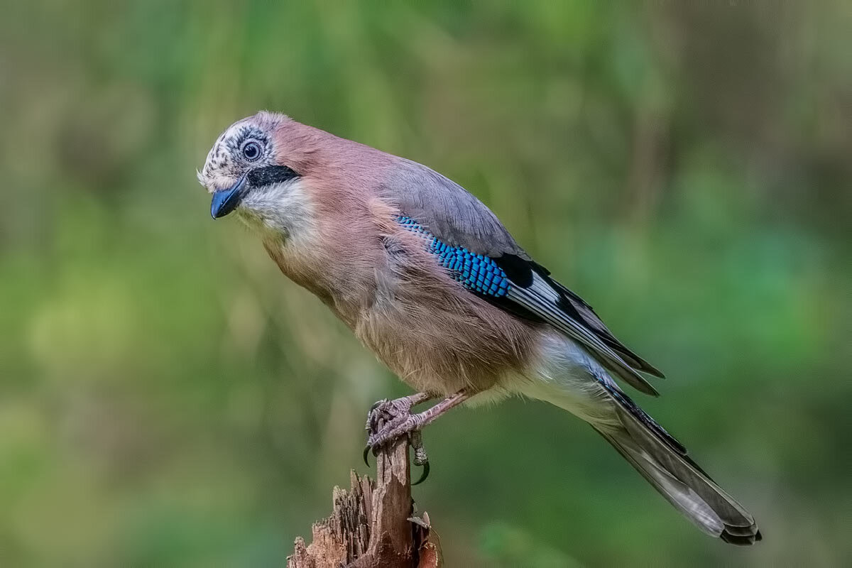
[[[219,136],[198,172],[213,194],[214,219],[237,211],[250,225],[291,231],[294,218],[304,213],[299,170],[310,152],[300,127],[282,114],[258,112]]]

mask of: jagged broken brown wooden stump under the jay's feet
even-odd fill
[[[350,473],[349,491],[335,487],[328,519],[314,523],[312,542],[296,538],[287,568],[438,568],[440,545],[429,515],[413,516],[408,441],[379,452],[376,481]]]

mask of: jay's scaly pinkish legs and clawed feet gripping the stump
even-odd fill
[[[423,475],[412,485],[417,485],[429,475],[429,457],[423,449],[421,428],[433,422],[435,418],[444,414],[458,404],[462,404],[470,398],[466,389],[458,391],[446,399],[441,400],[429,410],[423,410],[418,414],[412,414],[411,408],[414,404],[423,403],[432,397],[425,393],[413,394],[403,399],[380,401],[373,405],[370,416],[367,418],[367,446],[364,457],[369,450],[375,451],[379,446],[388,443],[392,439],[408,434],[409,443],[414,449],[414,463],[423,466]],[[391,416],[392,415],[392,416]],[[385,417],[387,416],[387,418]]]

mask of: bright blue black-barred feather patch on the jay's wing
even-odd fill
[[[396,221],[406,231],[421,235],[426,243],[426,250],[436,255],[440,266],[446,268],[452,278],[468,290],[495,298],[502,297],[509,292],[511,287],[509,278],[492,258],[486,255],[476,255],[464,247],[454,247],[440,241],[426,227],[409,216],[400,215],[396,218]]]

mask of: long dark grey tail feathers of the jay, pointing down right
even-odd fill
[[[626,399],[626,397],[625,397]],[[631,402],[629,399],[625,402]],[[724,542],[761,540],[754,517],[716,485],[686,450],[633,404],[619,406],[619,425],[592,424],[654,489],[687,519]]]

